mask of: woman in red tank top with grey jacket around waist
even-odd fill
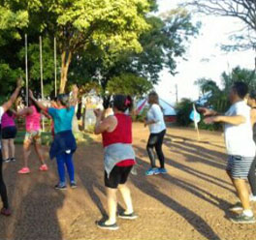
[[[113,97],[112,108],[114,115],[104,118],[104,111],[95,110],[96,124],[94,133],[102,134],[105,161],[105,186],[108,198],[109,219],[97,222],[104,229],[118,229],[116,225],[116,192],[123,196],[126,210],[118,213],[119,218],[136,219],[130,190],[126,185],[128,175],[135,165],[135,154],[132,149],[132,119],[124,112],[132,108],[129,96],[116,95]]]

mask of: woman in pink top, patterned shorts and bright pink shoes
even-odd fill
[[[24,166],[18,170],[18,173],[27,174],[30,172],[28,158],[31,153],[30,146],[32,143],[34,143],[36,153],[41,162],[39,169],[41,171],[47,171],[48,165],[45,163],[41,147],[41,109],[29,98],[28,107],[19,110],[16,116],[24,116],[26,120],[26,135],[23,142]]]

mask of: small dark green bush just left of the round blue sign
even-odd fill
[[[189,115],[193,109],[193,102],[190,99],[181,99],[179,103],[176,104],[176,122],[180,126],[189,126],[191,120]]]

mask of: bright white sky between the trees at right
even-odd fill
[[[176,8],[180,0],[158,0],[159,13]],[[185,54],[187,61],[177,62],[177,75],[170,75],[167,70],[160,74],[159,84],[155,90],[160,97],[169,103],[176,103],[176,86],[178,100],[199,98],[199,88],[194,82],[201,77],[211,78],[221,85],[221,74],[230,73],[237,66],[254,69],[255,52],[252,50],[240,52],[225,52],[220,44],[231,43],[230,33],[240,29],[240,21],[225,16],[193,15],[193,20],[200,20],[202,27],[196,39],[191,39]],[[204,61],[208,59],[208,61]],[[202,61],[203,60],[203,61]]]

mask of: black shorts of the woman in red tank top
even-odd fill
[[[129,165],[129,166],[115,165],[112,168],[109,178],[108,178],[107,172],[105,171],[105,176],[104,176],[105,186],[111,189],[117,189],[118,184],[125,184],[132,168],[133,168],[132,165]]]

